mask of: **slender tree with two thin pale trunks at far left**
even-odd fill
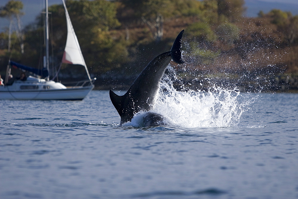
[[[21,10],[23,9],[23,3],[21,1],[8,1],[5,6],[0,8],[0,17],[8,18],[10,21],[9,31],[8,31],[8,52],[10,52],[11,47],[11,34],[12,26],[15,28],[17,38],[21,45],[21,52],[24,53],[24,33],[21,27],[21,15],[24,15]],[[14,20],[17,20],[17,26],[15,26]]]

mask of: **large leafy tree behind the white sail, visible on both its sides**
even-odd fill
[[[114,29],[120,25],[114,2],[69,0],[66,1],[66,6],[91,72],[104,72],[124,62],[127,56],[125,39],[114,34]],[[63,5],[53,5],[49,7],[49,12],[52,13],[50,20],[53,21],[50,40],[53,54],[62,57],[66,41]],[[38,18],[38,24],[41,26],[42,18]]]

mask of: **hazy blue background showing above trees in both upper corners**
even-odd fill
[[[0,0],[0,7],[7,4],[8,1],[9,0]],[[24,4],[23,12],[25,13],[25,15],[22,16],[22,24],[24,27],[35,21],[36,16],[39,15],[41,10],[44,8],[45,3],[44,3],[44,0],[21,0],[21,1]],[[262,9],[257,6],[261,1],[262,1],[262,5],[264,6]],[[48,0],[48,2],[49,2],[49,6],[53,4],[62,4],[62,0]],[[245,0],[245,2],[246,2],[245,6],[247,7],[246,15],[251,17],[256,16],[256,14],[260,10],[267,12],[266,9],[268,9],[269,11],[269,9],[271,10],[273,8],[277,8],[277,9],[283,8],[282,10],[284,11],[292,11],[292,12],[293,10],[297,10],[297,14],[298,14],[298,0]],[[266,2],[271,3],[271,4],[268,4],[268,5],[271,5],[271,7],[270,6],[266,7],[266,4],[264,4]],[[277,3],[277,4],[272,4],[272,3]],[[7,28],[8,26],[9,26],[9,21],[5,18],[0,18],[0,32],[4,31],[5,28]]]

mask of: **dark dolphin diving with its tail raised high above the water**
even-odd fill
[[[178,64],[184,63],[181,55],[183,32],[184,30],[179,33],[170,51],[164,52],[150,61],[124,95],[119,96],[110,90],[111,102],[121,117],[120,126],[125,122],[130,122],[134,114],[139,111],[150,111],[164,71],[172,59]],[[152,125],[157,119],[162,119],[161,115],[157,115],[159,114],[147,114],[144,121],[150,122],[145,122],[145,124]]]

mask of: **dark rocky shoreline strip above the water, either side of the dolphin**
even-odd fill
[[[214,74],[212,74],[214,75]],[[173,87],[178,91],[208,91],[214,86],[227,89],[238,89],[240,92],[274,92],[274,93],[298,93],[298,74],[276,74],[276,75],[256,75],[253,77],[239,78],[231,74],[229,77],[217,74],[209,78],[208,74],[199,77],[185,77],[177,79],[172,77]],[[135,78],[109,79],[97,78],[94,90],[128,90]],[[123,82],[119,84],[119,82]]]

